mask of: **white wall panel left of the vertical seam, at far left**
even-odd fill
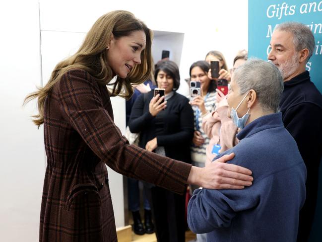
[[[19,6],[19,7],[18,7]],[[43,129],[23,98],[41,84],[38,1],[1,1],[0,241],[38,240],[45,171]]]

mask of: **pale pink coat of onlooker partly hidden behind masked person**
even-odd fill
[[[238,144],[239,140],[236,138],[237,127],[232,120],[227,116],[228,103],[226,98],[218,103],[215,111],[207,114],[202,119],[202,129],[209,137],[210,142],[206,148],[206,165],[209,164],[216,155],[212,154],[214,145],[221,146],[220,153],[227,151]]]

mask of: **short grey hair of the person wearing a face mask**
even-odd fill
[[[233,80],[241,95],[253,89],[265,111],[277,112],[284,85],[282,74],[274,64],[250,59],[234,71]]]

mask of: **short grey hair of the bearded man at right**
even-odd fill
[[[307,62],[309,61],[314,52],[315,40],[312,31],[307,25],[298,22],[285,22],[278,24],[274,30],[292,33],[295,50],[308,49]]]

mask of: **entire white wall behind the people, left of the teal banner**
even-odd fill
[[[209,50],[224,53],[231,67],[236,52],[247,49],[247,0],[170,1],[37,0],[1,1],[0,59],[0,237],[5,242],[38,240],[40,202],[46,167],[43,130],[30,121],[35,103],[21,107],[25,95],[46,82],[55,64],[72,54],[102,14],[133,12],[149,28],[184,34],[180,72],[204,59]],[[152,4],[152,3],[150,3]],[[183,5],[184,4],[184,5]],[[242,17],[235,17],[242,12]],[[41,31],[40,31],[41,28]],[[42,46],[40,46],[40,33]],[[113,99],[115,120],[124,131],[124,100]],[[112,172],[113,173],[113,172]],[[110,175],[117,227],[124,225],[122,176]]]

